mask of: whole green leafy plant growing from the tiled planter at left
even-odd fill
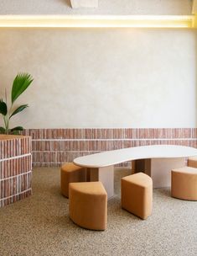
[[[9,127],[10,119],[13,115],[18,114],[28,107],[28,104],[20,105],[15,108],[14,103],[16,99],[27,89],[33,82],[33,77],[29,73],[18,73],[13,80],[13,87],[11,92],[11,105],[8,107],[7,92],[5,91],[5,100],[0,99],[0,114],[3,118],[3,125],[0,126],[1,134],[18,134],[19,131],[23,131],[22,126],[16,126],[12,129]]]

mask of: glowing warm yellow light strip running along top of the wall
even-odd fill
[[[194,15],[0,15],[1,28],[194,28],[194,24]]]

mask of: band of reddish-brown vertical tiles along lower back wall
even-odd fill
[[[34,167],[58,167],[75,157],[124,147],[159,144],[197,147],[196,128],[29,129],[23,135],[32,136]]]

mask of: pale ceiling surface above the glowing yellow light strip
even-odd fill
[[[189,15],[191,0],[99,0],[98,8],[73,9],[70,0],[1,0],[4,14]]]

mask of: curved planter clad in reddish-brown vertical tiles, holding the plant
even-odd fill
[[[0,207],[32,194],[30,136],[0,135]]]

